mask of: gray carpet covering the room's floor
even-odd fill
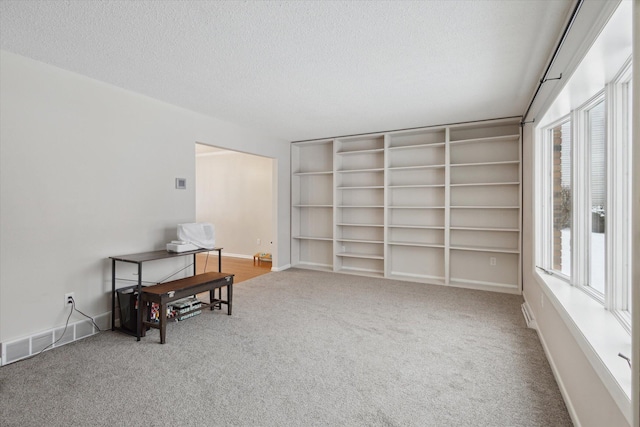
[[[519,296],[291,269],[0,368],[3,426],[565,426]]]

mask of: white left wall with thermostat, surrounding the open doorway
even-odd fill
[[[274,267],[288,265],[288,141],[0,55],[0,341],[64,325],[66,292],[110,310],[107,258],[161,249],[195,220],[194,186],[174,180],[194,182],[196,141],[275,159]]]

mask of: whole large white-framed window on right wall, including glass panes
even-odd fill
[[[602,303],[627,330],[631,89],[628,60],[603,90],[542,129],[538,170],[546,236],[538,241],[538,265]]]

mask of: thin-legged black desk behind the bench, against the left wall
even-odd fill
[[[142,289],[142,264],[148,261],[156,261],[160,259],[176,258],[186,255],[193,255],[193,274],[196,274],[196,255],[202,252],[218,252],[218,272],[222,272],[222,248],[213,249],[198,249],[188,252],[169,252],[166,250],[141,252],[138,254],[130,255],[118,255],[109,257],[111,259],[111,330],[116,329],[116,262],[128,262],[130,264],[138,265],[138,284],[135,287],[138,292],[138,321],[136,322],[136,338],[140,341],[140,324],[142,320],[142,304],[141,304],[141,289]],[[122,329],[124,332],[126,330]]]

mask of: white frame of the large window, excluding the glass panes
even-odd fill
[[[535,179],[536,227],[543,232],[536,239],[536,265],[563,282],[580,289],[610,311],[631,333],[629,287],[631,286],[631,102],[628,85],[632,81],[631,58],[616,76],[591,98],[568,114],[538,129]],[[604,101],[605,109],[605,288],[604,293],[589,284],[591,244],[591,143],[589,111]],[[571,274],[553,269],[553,129],[571,122]]]

